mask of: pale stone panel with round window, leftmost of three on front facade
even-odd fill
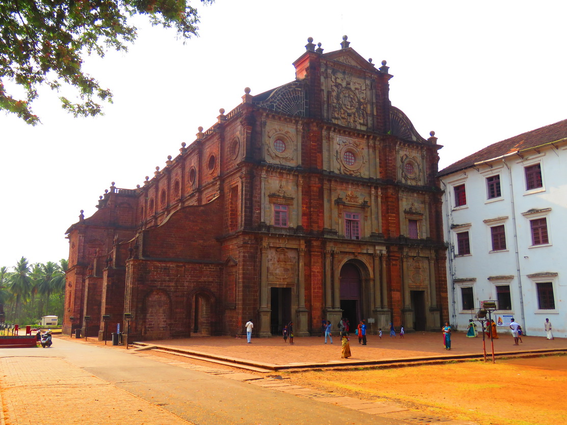
[[[281,165],[297,165],[297,131],[285,125],[266,125],[265,158],[267,162]]]

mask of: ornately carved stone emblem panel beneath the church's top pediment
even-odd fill
[[[367,129],[366,81],[342,73],[332,73],[331,99],[332,119],[335,123],[362,130]]]

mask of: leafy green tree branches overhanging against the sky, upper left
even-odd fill
[[[200,0],[210,4],[214,0]],[[78,91],[77,102],[60,97],[75,116],[102,113],[100,100],[112,92],[82,69],[85,54],[104,56],[107,49],[127,51],[136,39],[129,18],[147,15],[153,25],[176,28],[183,39],[197,35],[197,9],[190,0],[0,0],[0,109],[36,125],[30,104],[37,89],[62,84]],[[6,82],[22,88],[25,99],[7,91]]]

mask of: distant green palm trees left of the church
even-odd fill
[[[19,260],[14,271],[0,267],[0,313],[6,322],[30,325],[44,315],[63,315],[67,260],[36,263]]]

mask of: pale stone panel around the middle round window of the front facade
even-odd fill
[[[331,143],[335,148],[335,166],[339,174],[368,177],[368,150],[365,142],[335,134]]]

